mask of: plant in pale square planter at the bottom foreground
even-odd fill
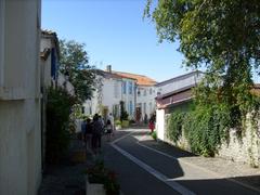
[[[119,195],[120,186],[116,173],[96,161],[87,170],[87,195]]]

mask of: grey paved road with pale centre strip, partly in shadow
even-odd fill
[[[192,161],[178,160],[178,152],[166,154],[143,144],[144,133],[125,132],[105,146],[105,161],[118,172],[123,195],[259,194]]]

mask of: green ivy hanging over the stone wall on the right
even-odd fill
[[[237,139],[242,139],[246,114],[259,110],[259,100],[251,95],[244,104],[227,104],[220,101],[217,89],[213,92],[212,88],[200,86],[194,91],[195,94],[198,94],[197,92],[199,95],[190,112],[180,112],[178,108],[172,112],[167,121],[167,136],[177,143],[183,130],[193,153],[214,156],[220,144],[223,141],[229,142],[231,128],[235,128]],[[257,118],[257,115],[253,115],[255,123]]]

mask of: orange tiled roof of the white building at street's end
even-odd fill
[[[136,75],[136,74],[130,74],[130,73],[123,73],[123,72],[113,72],[116,75],[119,75],[123,78],[130,78],[136,80],[139,86],[155,86],[157,82],[144,75]]]

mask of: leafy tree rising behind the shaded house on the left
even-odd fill
[[[61,66],[63,74],[69,76],[69,81],[75,88],[79,103],[92,95],[95,74],[93,66],[89,65],[89,56],[84,51],[84,44],[74,40],[61,40]]]

